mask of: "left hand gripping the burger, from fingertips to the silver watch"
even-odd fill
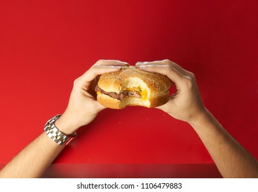
[[[96,77],[103,73],[119,71],[121,66],[125,65],[128,63],[119,60],[98,60],[78,77],[73,83],[67,109],[56,121],[57,128],[65,134],[71,134],[82,125],[93,121],[97,113],[105,108],[95,98]]]

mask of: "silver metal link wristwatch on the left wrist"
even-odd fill
[[[58,143],[58,145],[63,145],[64,143],[67,145],[73,138],[75,138],[75,136],[77,136],[77,134],[73,133],[72,135],[65,135],[56,128],[55,121],[58,120],[60,116],[61,115],[56,115],[49,119],[44,126],[44,130],[47,133],[47,136]]]

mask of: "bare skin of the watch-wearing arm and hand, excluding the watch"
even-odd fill
[[[74,81],[67,109],[56,121],[56,127],[68,135],[93,121],[97,113],[105,108],[93,95],[95,78],[102,73],[119,71],[124,65],[128,63],[99,60],[78,77]],[[64,148],[65,145],[58,145],[43,132],[3,167],[0,178],[39,178]]]

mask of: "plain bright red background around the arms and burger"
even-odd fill
[[[192,71],[204,104],[257,158],[257,2],[0,1],[0,164],[65,110],[73,80],[99,59],[168,58]],[[142,107],[102,111],[54,163],[213,165],[187,123]],[[120,168],[88,176],[141,177],[150,167]],[[160,167],[150,169],[144,177]]]

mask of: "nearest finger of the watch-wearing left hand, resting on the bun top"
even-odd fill
[[[102,75],[103,73],[110,73],[114,71],[120,71],[121,66],[105,66],[105,65],[94,65],[86,71],[80,78],[82,82],[91,82],[97,77],[97,75]]]

